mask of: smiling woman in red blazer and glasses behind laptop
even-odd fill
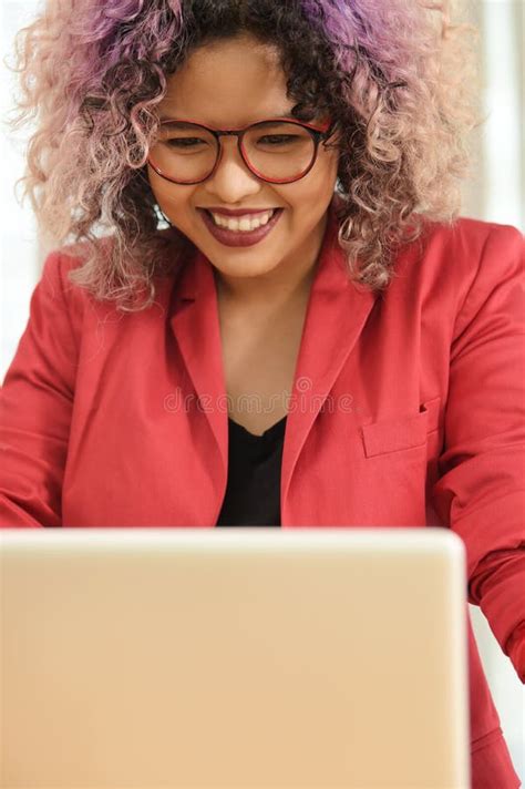
[[[426,6],[61,0],[21,31],[58,245],[0,520],[451,527],[524,682],[523,236],[457,216],[469,29]],[[514,789],[469,648],[472,786]]]

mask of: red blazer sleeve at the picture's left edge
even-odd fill
[[[63,256],[48,255],[0,391],[0,526],[61,526],[78,351]]]

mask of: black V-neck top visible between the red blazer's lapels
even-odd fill
[[[217,526],[280,526],[286,417],[254,436],[228,419],[228,483]]]

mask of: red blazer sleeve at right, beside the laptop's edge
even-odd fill
[[[524,237],[490,229],[451,346],[434,506],[461,536],[469,602],[480,605],[524,682]]]

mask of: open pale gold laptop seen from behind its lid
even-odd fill
[[[4,530],[3,789],[467,789],[447,529]]]

